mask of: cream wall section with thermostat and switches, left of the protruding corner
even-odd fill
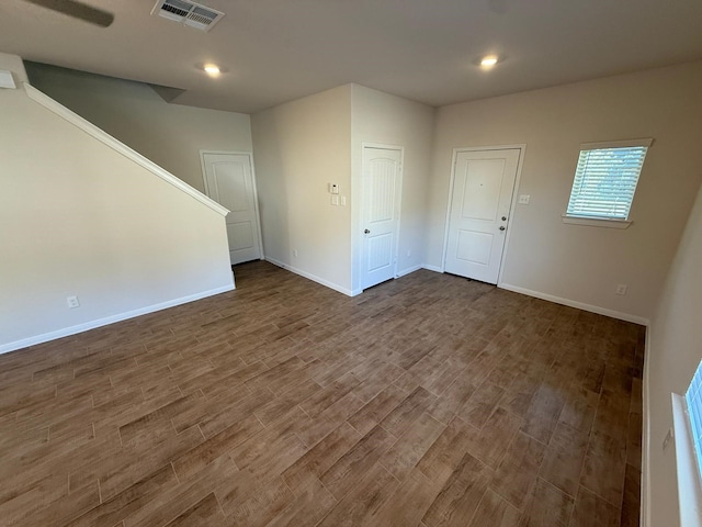
[[[251,130],[265,258],[350,293],[351,206],[327,183],[351,189],[351,87],[256,113]]]

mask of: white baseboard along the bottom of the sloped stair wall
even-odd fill
[[[215,294],[226,293],[227,291],[233,291],[234,289],[235,288],[233,283],[231,285],[224,285],[222,288],[211,289],[208,291],[202,291],[200,293],[190,294],[188,296],[181,296],[180,299],[173,299],[167,302],[161,302],[159,304],[147,305],[146,307],[139,307],[138,310],[132,310],[125,313],[118,313],[116,315],[105,316],[104,318],[98,318],[95,321],[86,322],[83,324],[78,324],[76,326],[64,327],[61,329],[56,329],[55,332],[44,333],[42,335],[35,335],[33,337],[23,338],[22,340],[15,340],[13,343],[3,344],[3,345],[0,345],[0,355],[7,354],[8,351],[14,351],[15,349],[26,348],[27,346],[35,346],[37,344],[48,343],[49,340],[56,340],[57,338],[68,337],[70,335],[83,333],[89,329],[94,329],[97,327],[114,324],[115,322],[126,321],[127,318],[134,318],[136,316],[147,315],[149,313],[155,313],[157,311],[166,310],[168,307],[174,307],[177,305],[186,304],[189,302],[202,300],[207,296],[213,296]]]

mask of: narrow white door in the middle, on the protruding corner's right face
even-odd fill
[[[395,277],[401,191],[401,150],[363,147],[361,288]]]

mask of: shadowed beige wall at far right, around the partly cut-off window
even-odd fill
[[[644,463],[648,527],[679,524],[670,394],[683,394],[702,359],[702,189],[672,262],[647,336],[648,460]]]

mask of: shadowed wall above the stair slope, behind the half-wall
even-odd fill
[[[36,63],[27,71],[44,93],[201,192],[201,149],[251,152],[247,114],[168,104],[129,80]]]

